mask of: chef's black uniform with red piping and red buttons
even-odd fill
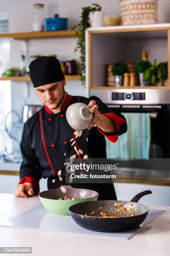
[[[65,113],[67,107],[76,102],[88,105],[95,100],[102,115],[115,122],[117,134],[104,133],[100,128],[93,127],[82,132],[82,136],[75,138],[74,130],[67,123]],[[65,158],[76,154],[70,139],[74,137],[77,149],[81,148],[83,155],[89,158],[106,158],[105,137],[116,142],[118,136],[127,131],[127,123],[121,113],[114,113],[97,97],[90,98],[71,96],[67,94],[61,106],[61,111],[52,113],[46,106],[35,113],[24,124],[21,140],[23,162],[20,167],[20,183],[31,182],[35,187],[35,195],[39,192],[39,180],[47,178],[48,189],[60,187],[57,172],[64,172]],[[88,138],[88,140],[87,140]],[[77,155],[77,154],[76,154]],[[78,157],[78,155],[76,156]],[[55,179],[55,183],[52,182]],[[19,183],[19,184],[20,184]],[[72,187],[92,189],[99,192],[98,200],[116,200],[113,184],[71,184]]]

